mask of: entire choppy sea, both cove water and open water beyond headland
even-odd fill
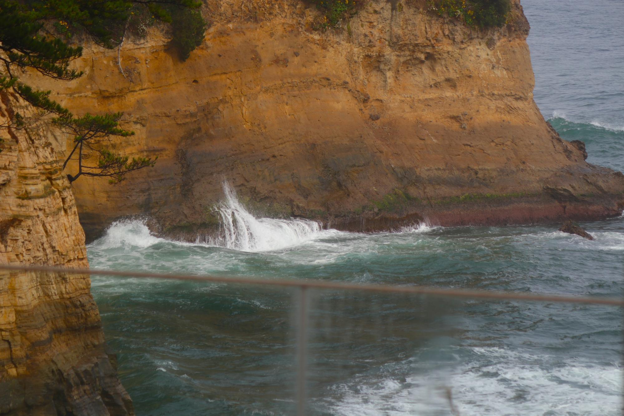
[[[624,169],[624,2],[523,0],[535,99],[588,162]],[[88,247],[94,268],[622,296],[624,217],[357,234],[262,219],[224,188],[223,235],[163,240],[140,221]],[[139,415],[293,415],[298,293],[93,277]],[[622,310],[595,305],[308,294],[308,414],[619,415]]]

